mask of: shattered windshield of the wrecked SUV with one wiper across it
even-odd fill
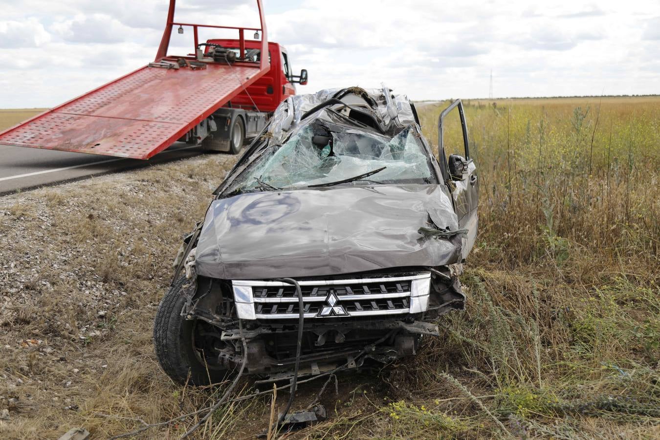
[[[230,193],[335,183],[383,167],[378,173],[355,182],[431,183],[435,180],[419,135],[412,126],[390,139],[357,129],[333,132],[310,124],[279,148],[266,150],[236,178]]]

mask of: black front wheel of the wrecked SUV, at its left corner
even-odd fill
[[[218,363],[214,344],[222,344],[218,338],[208,336],[214,329],[204,321],[187,320],[181,316],[185,296],[182,276],[165,294],[154,320],[154,348],[162,369],[176,383],[184,385],[209,385],[222,381],[225,365]],[[204,335],[204,336],[202,336]]]

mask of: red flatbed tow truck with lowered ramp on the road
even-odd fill
[[[286,49],[268,41],[261,0],[257,8],[259,28],[191,24],[175,20],[170,0],[153,63],[1,132],[0,144],[149,159],[183,141],[238,153],[308,79],[304,69],[292,75]],[[238,38],[200,43],[200,28]],[[192,31],[193,53],[168,55],[175,29]]]

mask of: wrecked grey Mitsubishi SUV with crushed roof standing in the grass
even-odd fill
[[[446,157],[456,109],[465,156]],[[186,237],[154,325],[179,383],[239,369],[266,380],[415,353],[463,309],[477,173],[463,106],[439,151],[389,88],[290,96]]]

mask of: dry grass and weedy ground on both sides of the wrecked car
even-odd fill
[[[323,400],[329,420],[296,437],[657,438],[660,99],[466,104],[481,189],[467,311],[396,368],[340,377],[340,395]],[[440,110],[420,111],[432,143]],[[0,437],[84,425],[106,438],[222,391],[172,385],[150,335],[180,234],[231,161],[206,156],[0,201],[0,408],[12,418]],[[269,414],[268,397],[238,402],[198,437],[252,437]],[[145,438],[177,438],[193,423]]]

